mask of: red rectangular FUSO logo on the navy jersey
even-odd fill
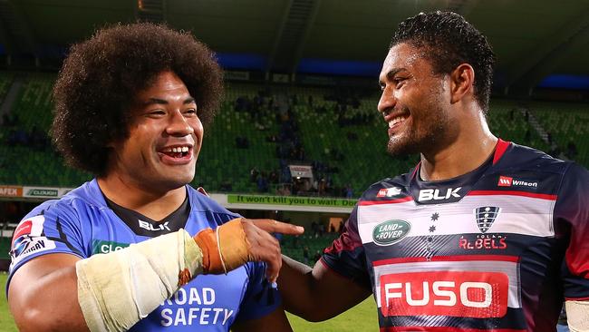
[[[504,317],[509,278],[502,272],[398,273],[381,276],[380,290],[385,317]]]

